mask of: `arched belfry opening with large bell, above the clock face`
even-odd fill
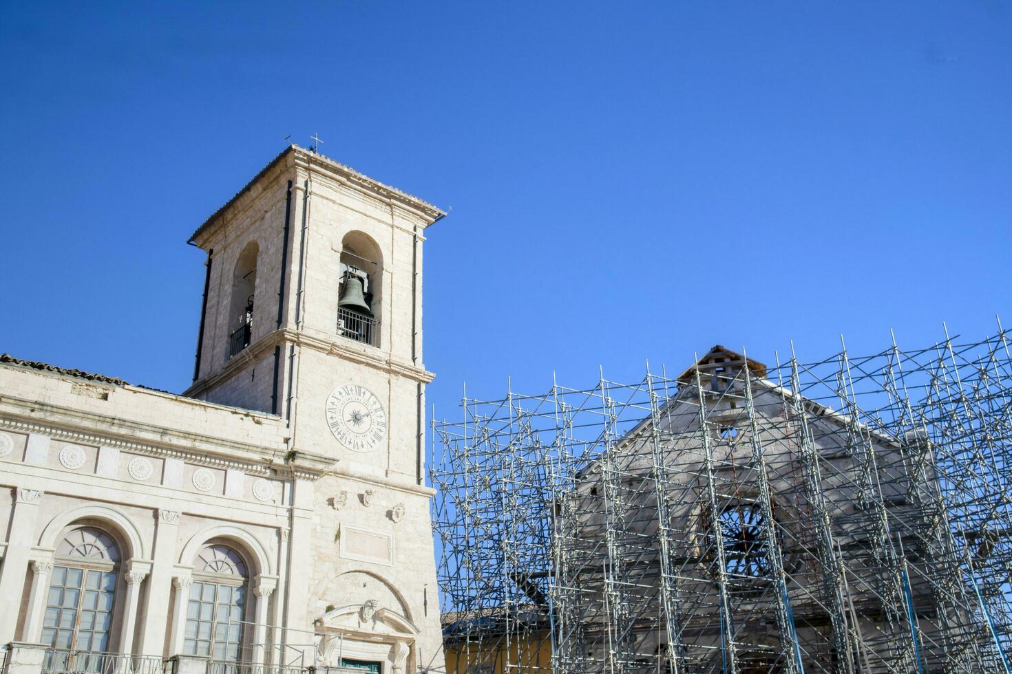
[[[360,231],[348,232],[341,242],[340,269],[337,333],[378,347],[383,305],[380,247]]]

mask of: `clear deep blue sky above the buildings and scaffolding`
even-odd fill
[[[209,4],[209,3],[208,3]],[[290,3],[289,3],[290,4]],[[429,398],[1012,325],[1012,3],[7,3],[0,351],[181,391],[285,145],[452,207]]]

